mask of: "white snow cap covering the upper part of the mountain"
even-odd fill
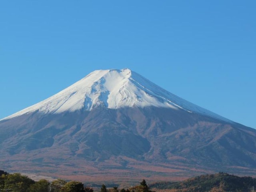
[[[37,110],[44,114],[55,114],[66,111],[92,110],[99,105],[105,105],[111,109],[135,106],[181,109],[231,122],[160,88],[127,68],[91,72],[54,96],[2,120]]]

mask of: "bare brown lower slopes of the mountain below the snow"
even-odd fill
[[[84,180],[250,175],[256,130],[170,108],[36,111],[0,122],[0,153],[0,167],[8,171]]]

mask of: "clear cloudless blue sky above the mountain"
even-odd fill
[[[0,2],[0,118],[110,68],[256,128],[256,1]]]

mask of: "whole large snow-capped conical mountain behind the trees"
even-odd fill
[[[97,70],[0,120],[0,168],[95,180],[256,173],[256,130],[129,69]],[[65,175],[65,176],[64,176]],[[107,177],[106,177],[107,176]]]

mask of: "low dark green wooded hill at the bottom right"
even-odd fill
[[[182,182],[158,182],[150,187],[156,191],[170,192],[250,192],[256,187],[256,178],[220,172],[193,177]]]

